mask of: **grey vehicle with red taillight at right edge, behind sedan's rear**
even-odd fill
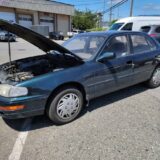
[[[151,37],[160,42],[160,25],[142,26],[140,31],[149,34]]]

